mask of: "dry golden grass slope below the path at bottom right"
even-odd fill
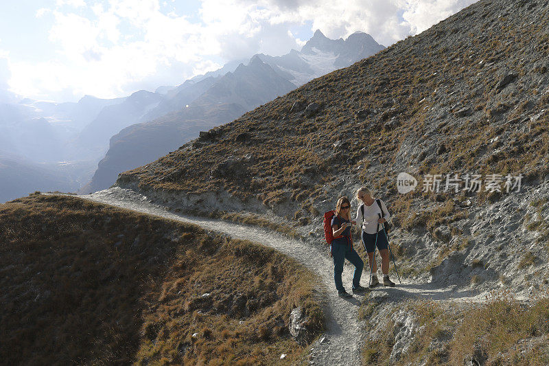
[[[484,365],[547,365],[549,297],[540,295],[528,306],[506,292],[491,293],[484,304],[408,301],[397,306],[393,312],[406,310],[418,328],[408,352],[394,364],[463,365],[475,356]],[[362,304],[364,311],[371,306]],[[391,314],[384,325],[387,336],[366,341],[364,365],[388,364],[395,327]]]

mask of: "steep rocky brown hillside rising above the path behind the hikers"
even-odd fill
[[[319,214],[368,185],[407,276],[528,291],[548,273],[548,30],[548,1],[479,1],[117,184],[174,208],[270,211],[318,242]],[[397,193],[399,172],[417,190]],[[462,175],[459,192],[423,192],[428,174],[481,174],[483,188]],[[488,192],[489,174],[522,174],[522,190]]]

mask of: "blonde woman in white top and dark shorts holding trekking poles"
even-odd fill
[[[377,264],[373,260],[375,247],[379,250],[382,256],[382,273],[383,286],[395,286],[395,283],[389,279],[389,251],[386,233],[383,231],[383,223],[390,217],[389,211],[385,203],[379,198],[379,204],[372,198],[368,188],[362,187],[356,192],[358,205],[356,211],[357,225],[362,227],[362,242],[368,253],[370,269],[372,271],[372,283],[370,287],[375,287],[379,284],[377,279]],[[379,207],[381,205],[381,207]],[[379,230],[379,231],[378,231]],[[377,236],[377,242],[376,242]]]

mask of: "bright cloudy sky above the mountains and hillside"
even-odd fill
[[[0,96],[75,102],[178,85],[325,36],[384,46],[476,0],[18,0],[0,3]]]

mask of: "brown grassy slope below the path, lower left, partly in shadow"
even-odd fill
[[[8,365],[270,364],[314,337],[314,276],[250,242],[69,196],[0,205],[0,359]]]

